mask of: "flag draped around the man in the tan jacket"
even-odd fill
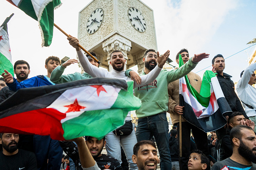
[[[183,65],[181,55],[179,64]],[[179,97],[180,106],[184,106],[183,117],[205,132],[223,127],[227,123],[223,114],[232,112],[215,73],[210,70],[203,74],[200,94],[187,76],[179,79]]]

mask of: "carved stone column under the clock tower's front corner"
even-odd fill
[[[123,36],[120,36],[119,34],[115,34],[108,39],[104,40],[103,44],[103,50],[104,52],[107,52],[107,60],[108,64],[110,62],[110,53],[114,50],[120,50],[121,52],[124,53],[124,58],[125,58],[125,67],[127,64],[127,52],[130,52],[131,50],[131,41],[124,38]],[[109,71],[112,70],[112,66],[109,64]]]

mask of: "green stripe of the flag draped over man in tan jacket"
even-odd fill
[[[181,54],[179,54],[179,67],[183,65],[184,63],[181,58]],[[197,101],[204,107],[209,106],[209,101],[211,98],[211,79],[215,76],[215,73],[210,70],[206,70],[206,72],[203,74],[200,94],[192,87],[192,85],[190,85],[187,75],[184,76],[187,84],[187,89],[190,91],[190,94],[192,94],[197,99]]]

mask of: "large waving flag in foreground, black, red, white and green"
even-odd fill
[[[0,133],[102,138],[140,106],[133,81],[94,78],[22,88],[0,104]]]

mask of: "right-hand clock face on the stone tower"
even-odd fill
[[[141,33],[143,33],[146,30],[147,27],[145,18],[138,9],[130,7],[128,9],[128,18],[131,22],[131,25],[135,28],[135,30]]]

